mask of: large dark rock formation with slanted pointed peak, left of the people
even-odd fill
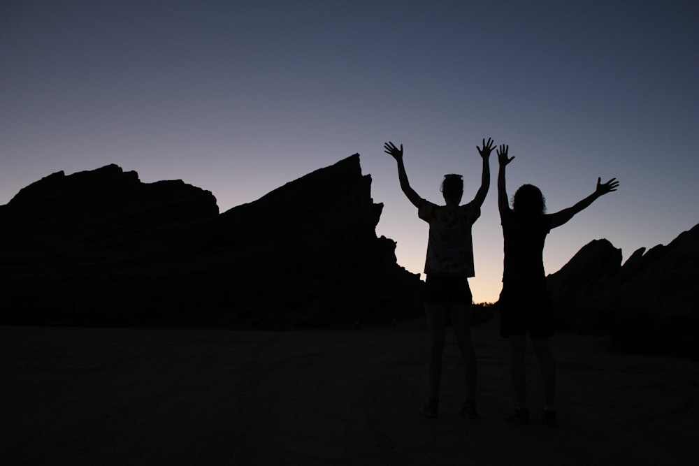
[[[3,323],[354,326],[421,314],[419,275],[377,238],[359,154],[219,214],[182,181],[118,166],[0,206]]]

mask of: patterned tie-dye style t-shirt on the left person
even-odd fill
[[[471,226],[480,217],[480,207],[436,205],[422,199],[417,214],[430,225],[425,274],[475,276]]]

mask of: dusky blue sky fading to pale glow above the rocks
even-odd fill
[[[549,212],[621,182],[549,234],[547,273],[600,238],[626,260],[699,224],[698,20],[693,0],[2,0],[0,204],[116,163],[224,212],[359,153],[377,235],[420,273],[428,226],[383,144],[420,196],[461,173],[466,202],[493,138],[508,193],[535,184]],[[477,303],[501,289],[497,170],[493,153]]]

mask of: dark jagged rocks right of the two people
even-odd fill
[[[699,356],[699,225],[621,265],[607,240],[547,277],[559,328],[610,332],[621,349]]]

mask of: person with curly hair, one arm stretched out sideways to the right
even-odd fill
[[[619,182],[612,178],[602,184],[582,201],[567,209],[546,214],[541,191],[531,184],[517,189],[512,209],[505,189],[505,166],[514,159],[508,158],[509,146],[500,145],[498,163],[498,208],[505,239],[505,263],[503,291],[500,293],[500,335],[510,342],[510,368],[514,386],[514,409],[507,418],[521,423],[528,422],[526,406],[525,353],[526,334],[531,337],[538,358],[544,385],[542,420],[556,423],[554,395],[556,392],[556,367],[549,337],[554,335],[551,303],[546,288],[544,272],[544,241],[556,226],[565,224],[573,215],[588,207],[596,198],[616,191]]]

